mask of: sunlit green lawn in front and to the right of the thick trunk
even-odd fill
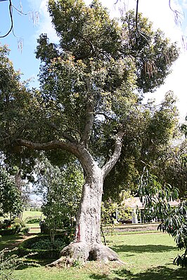
[[[16,280],[178,280],[187,269],[172,265],[178,251],[172,237],[163,233],[107,236],[108,246],[125,263],[89,262],[85,267],[46,269],[27,267],[15,271]]]

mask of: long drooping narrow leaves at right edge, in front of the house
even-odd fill
[[[174,264],[186,266],[187,200],[183,199],[178,206],[172,207],[169,202],[179,198],[178,189],[171,185],[161,185],[148,168],[144,168],[141,176],[138,195],[144,206],[146,220],[160,218],[162,223],[158,229],[171,235],[180,250],[185,249],[182,256],[175,258]]]

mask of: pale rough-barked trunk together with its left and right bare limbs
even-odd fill
[[[114,152],[103,168],[98,167],[86,147],[89,133],[85,133],[87,136],[85,136],[85,141],[81,143],[53,141],[42,144],[17,140],[18,145],[23,145],[30,149],[66,149],[77,156],[86,174],[86,182],[82,189],[82,199],[77,213],[75,241],[63,248],[59,260],[52,262],[48,266],[51,267],[63,262],[66,265],[71,265],[77,260],[80,262],[86,262],[87,260],[119,260],[117,254],[101,242],[100,221],[103,180],[120,157],[123,134],[121,129],[116,135]]]

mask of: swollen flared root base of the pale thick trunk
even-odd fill
[[[60,253],[60,258],[55,262],[51,262],[51,264],[46,265],[46,267],[70,267],[72,265],[75,265],[76,262],[79,262],[79,264],[84,264],[89,260],[120,262],[117,253],[115,253],[115,251],[112,251],[112,249],[110,249],[109,247],[98,243],[89,245],[86,244],[86,242],[79,241],[63,248]]]

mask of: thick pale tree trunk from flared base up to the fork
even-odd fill
[[[96,171],[86,179],[82,189],[82,199],[77,213],[75,241],[63,248],[60,259],[49,266],[65,261],[72,264],[76,260],[119,260],[112,249],[101,242],[101,199],[103,194],[103,172]]]

